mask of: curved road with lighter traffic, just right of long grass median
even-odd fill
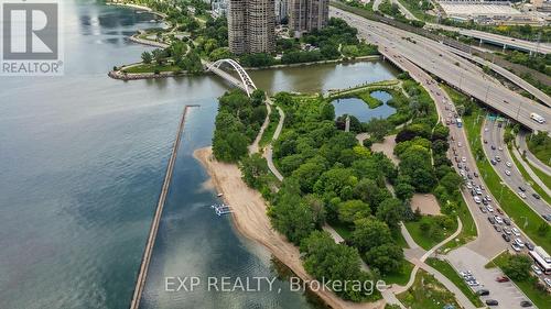
[[[518,170],[511,154],[504,142],[505,125],[497,121],[485,121],[482,132],[484,152],[493,161],[494,169],[503,181],[516,192],[533,211],[540,216],[550,214],[551,208],[542,197],[536,197],[536,191],[526,183]]]

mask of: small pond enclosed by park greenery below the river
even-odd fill
[[[333,101],[335,107],[335,115],[343,114],[355,115],[360,122],[368,122],[372,118],[387,118],[396,112],[396,109],[388,106],[387,102],[392,99],[392,96],[387,91],[374,91],[371,97],[380,100],[383,104],[375,109],[370,109],[364,100],[358,98],[345,98]]]

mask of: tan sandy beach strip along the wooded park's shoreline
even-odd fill
[[[271,229],[270,220],[266,213],[267,203],[262,196],[241,180],[241,172],[236,165],[217,162],[212,154],[212,148],[205,147],[196,150],[193,155],[206,168],[216,190],[224,194],[225,202],[231,206],[231,217],[237,230],[246,238],[266,246],[296,276],[305,282],[312,280],[313,278],[302,266],[299,249]],[[355,304],[345,301],[327,290],[315,293],[331,308],[335,309],[382,309],[385,307],[385,300]]]

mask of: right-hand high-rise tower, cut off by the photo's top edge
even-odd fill
[[[327,25],[329,0],[288,0],[289,30],[295,37]]]

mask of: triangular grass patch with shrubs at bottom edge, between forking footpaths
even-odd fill
[[[419,269],[413,286],[397,297],[410,309],[442,309],[445,305],[461,308],[453,293],[423,269]]]

